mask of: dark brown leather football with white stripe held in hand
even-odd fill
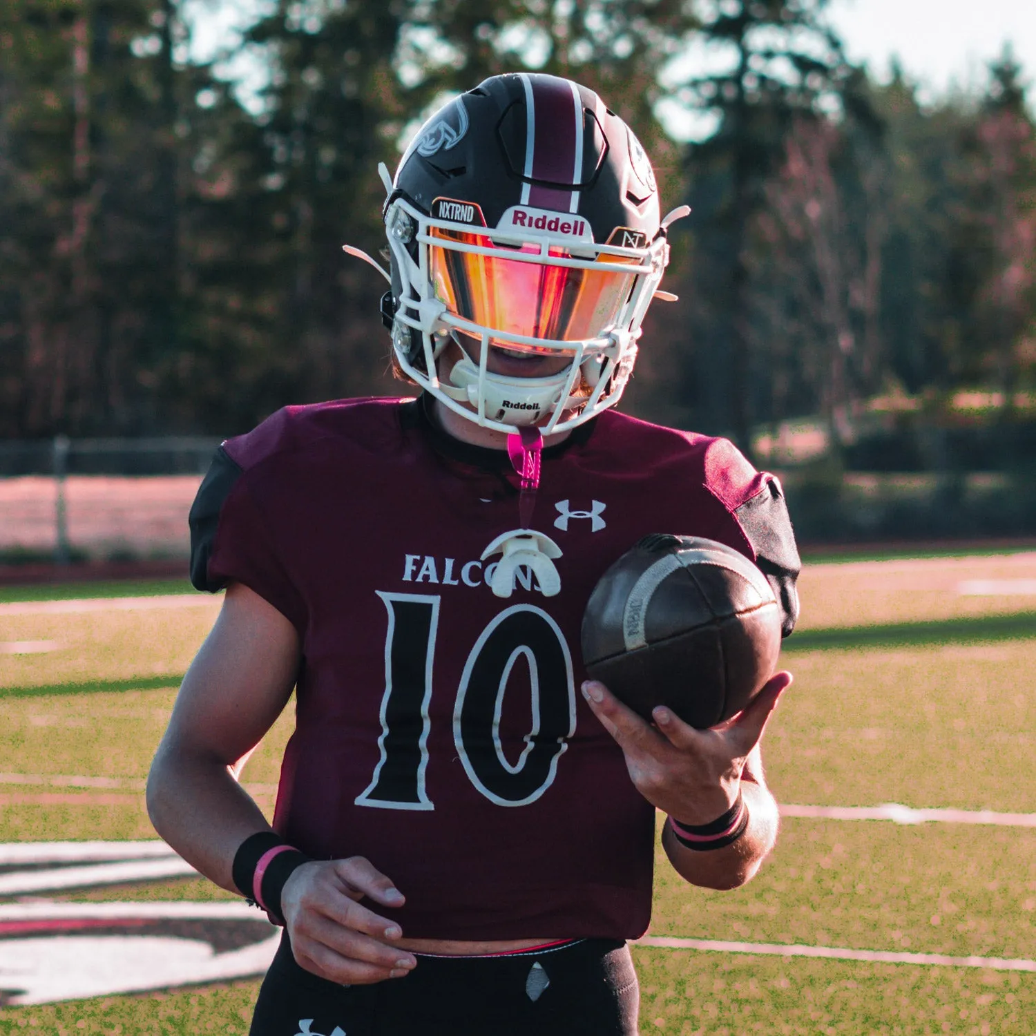
[[[699,728],[751,701],[780,641],[766,576],[733,548],[690,536],[644,537],[601,576],[582,622],[593,679],[644,719],[664,704]]]

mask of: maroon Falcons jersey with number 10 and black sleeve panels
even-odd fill
[[[799,562],[779,485],[723,439],[608,411],[543,453],[531,527],[560,592],[493,595],[484,548],[519,526],[507,454],[422,403],[289,407],[224,443],[192,509],[192,579],[244,583],[298,630],[295,730],[274,826],[368,857],[411,938],[635,938],[655,810],[577,689],[605,569],[649,533],[719,540],[774,582]]]

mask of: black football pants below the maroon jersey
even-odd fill
[[[300,968],[284,938],[251,1036],[636,1036],[639,990],[625,943],[414,955],[404,978],[343,986]]]

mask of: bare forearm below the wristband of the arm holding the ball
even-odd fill
[[[736,889],[751,880],[777,840],[777,803],[768,788],[743,778],[741,793],[748,809],[748,827],[737,841],[722,848],[695,851],[682,845],[668,823],[662,846],[673,869],[691,885]]]

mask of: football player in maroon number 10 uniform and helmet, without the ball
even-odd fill
[[[729,442],[612,409],[681,212],[596,93],[493,77],[382,177],[381,310],[420,393],[287,407],[218,451],[191,573],[226,597],[150,814],[285,926],[257,1036],[632,1034],[656,810],[688,882],[748,881],[790,678],[714,729],[645,722],[586,681],[583,608],[673,531],[753,560],[789,633],[787,511]],[[236,778],[292,689],[270,826]]]

